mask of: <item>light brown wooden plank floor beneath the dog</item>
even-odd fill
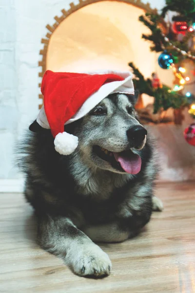
[[[134,239],[101,245],[113,263],[104,279],[74,275],[36,244],[32,209],[0,194],[0,292],[195,293],[195,183],[160,184],[164,203]]]

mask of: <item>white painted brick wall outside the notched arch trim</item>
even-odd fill
[[[46,24],[53,24],[69,2],[0,0],[0,179],[20,177],[13,146],[38,113],[40,40]],[[164,5],[164,0],[150,2],[153,8]]]

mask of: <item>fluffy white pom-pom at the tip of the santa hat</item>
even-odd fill
[[[54,140],[54,145],[60,155],[70,155],[78,146],[78,137],[67,132],[59,133]]]

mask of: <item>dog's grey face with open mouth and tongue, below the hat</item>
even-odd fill
[[[137,92],[134,96],[111,94],[75,126],[65,126],[66,131],[72,128],[78,136],[76,151],[88,166],[117,173],[140,171],[139,153],[146,143],[147,130],[136,118],[137,96]]]

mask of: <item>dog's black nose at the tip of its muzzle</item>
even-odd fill
[[[127,137],[132,143],[137,146],[143,142],[147,133],[147,130],[143,126],[136,125],[127,130]]]

